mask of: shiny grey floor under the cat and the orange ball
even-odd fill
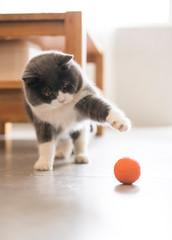
[[[29,134],[0,141],[0,239],[172,239],[172,128],[108,130],[91,142],[90,164],[57,160],[51,172],[33,170]],[[113,175],[125,156],[141,165],[131,186]]]

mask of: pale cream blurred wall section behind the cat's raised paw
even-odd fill
[[[112,47],[114,101],[136,126],[172,125],[172,28],[127,28]]]

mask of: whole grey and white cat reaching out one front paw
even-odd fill
[[[23,72],[27,113],[39,145],[36,170],[51,170],[55,155],[88,163],[91,121],[127,131],[131,124],[124,113],[108,103],[85,77],[72,55],[47,51],[32,58]],[[56,146],[58,148],[56,150]]]

